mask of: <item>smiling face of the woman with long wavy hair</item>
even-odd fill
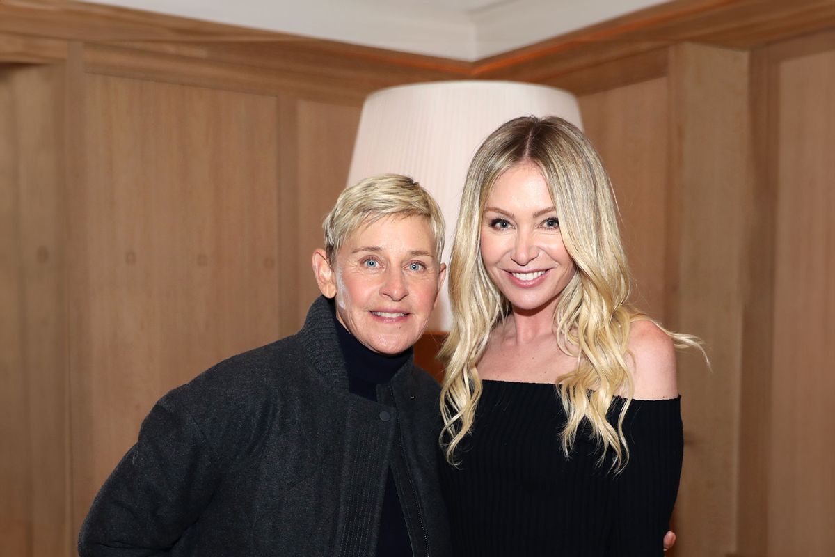
[[[574,276],[548,185],[534,165],[512,166],[493,185],[481,222],[481,258],[517,312],[553,310]]]

